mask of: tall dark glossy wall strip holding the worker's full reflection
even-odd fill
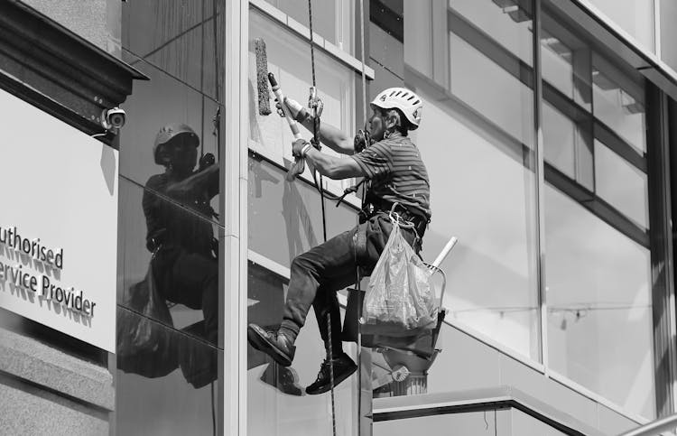
[[[118,434],[223,428],[224,11],[122,8],[122,58],[149,80],[127,99],[119,139]]]

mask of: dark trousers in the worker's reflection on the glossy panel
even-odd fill
[[[153,261],[160,293],[168,301],[202,310],[204,336],[218,342],[218,262],[209,254],[162,248]]]

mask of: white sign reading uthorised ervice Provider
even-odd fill
[[[0,90],[0,306],[116,348],[118,153]]]

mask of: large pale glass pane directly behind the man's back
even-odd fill
[[[450,237],[459,238],[442,264],[447,319],[538,359],[535,180],[523,160],[529,151],[481,117],[421,96],[425,120],[414,142],[428,167],[432,207],[423,257],[434,259]],[[441,132],[453,140],[443,141]]]

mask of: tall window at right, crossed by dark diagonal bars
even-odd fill
[[[556,35],[573,49],[570,65],[560,62],[558,72],[551,62],[543,73],[549,366],[624,410],[651,418],[651,253],[635,242],[648,227],[647,178],[635,166],[646,151],[643,82],[574,38],[548,8],[543,26],[546,36]],[[571,93],[555,85],[560,75],[570,78]],[[566,95],[552,92],[552,85]]]

